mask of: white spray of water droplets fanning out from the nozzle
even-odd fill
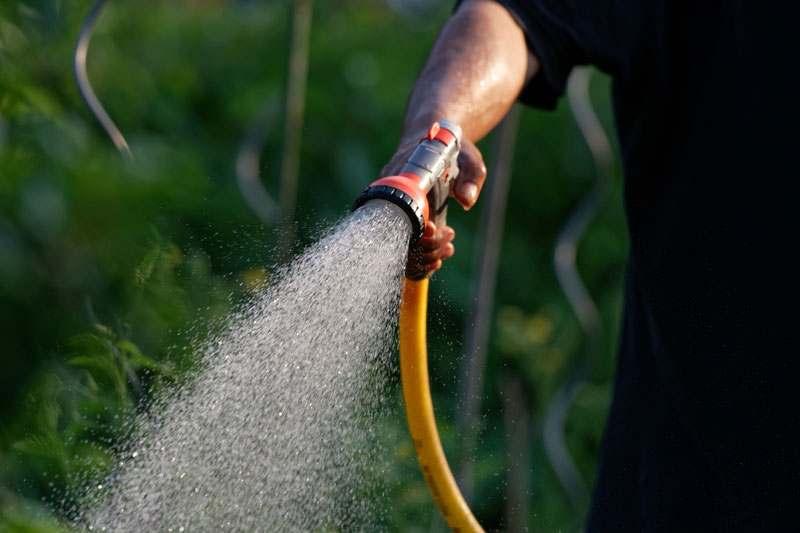
[[[285,267],[155,399],[75,525],[108,531],[370,529],[375,418],[394,398],[405,215],[371,202]]]

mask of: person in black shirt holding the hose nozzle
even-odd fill
[[[800,272],[787,131],[798,119],[797,11],[466,0],[412,91],[383,175],[434,120],[452,120],[464,130],[452,196],[470,209],[486,178],[474,143],[516,100],[554,108],[576,65],[613,78],[630,259],[589,531],[800,527],[800,354],[796,311],[783,311]],[[454,237],[429,223],[420,268],[439,269]]]

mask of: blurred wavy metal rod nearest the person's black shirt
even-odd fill
[[[586,504],[589,491],[567,448],[564,425],[572,401],[586,380],[592,359],[603,349],[603,325],[600,313],[581,279],[576,259],[580,240],[602,206],[611,185],[613,165],[611,144],[592,108],[589,95],[590,79],[590,69],[575,69],[567,85],[567,98],[578,129],[592,154],[595,181],[561,230],[553,253],[556,277],[586,335],[586,348],[584,355],[574,365],[570,377],[551,400],[544,417],[543,429],[547,458],[570,502],[576,508]]]

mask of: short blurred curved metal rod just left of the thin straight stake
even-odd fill
[[[261,150],[267,133],[267,124],[275,115],[275,98],[267,99],[259,118],[242,139],[239,155],[236,157],[236,183],[239,194],[247,206],[265,225],[271,226],[280,221],[278,204],[272,199],[261,181]]]

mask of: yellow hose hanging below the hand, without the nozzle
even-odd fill
[[[406,279],[400,304],[400,375],[406,417],[419,465],[447,525],[458,532],[483,532],[458,489],[439,440],[428,381],[428,280]]]

